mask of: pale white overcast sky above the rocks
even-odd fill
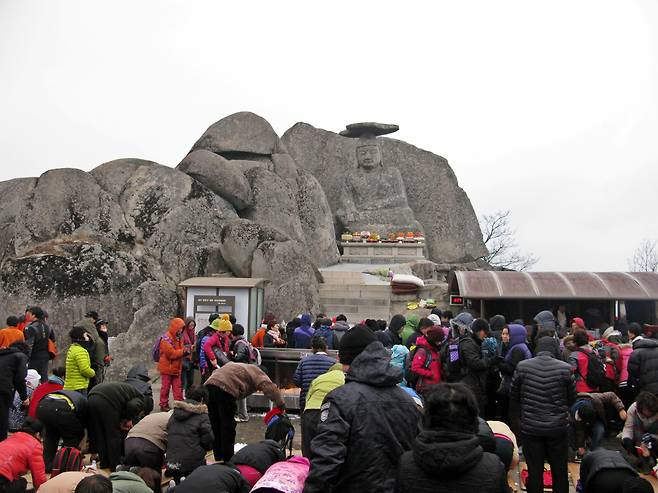
[[[175,166],[241,110],[397,123],[535,270],[625,270],[657,238],[658,2],[0,0],[0,180]]]

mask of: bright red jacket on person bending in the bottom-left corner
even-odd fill
[[[46,482],[41,442],[29,433],[19,431],[0,442],[0,476],[14,481],[28,470],[32,473],[35,490]]]

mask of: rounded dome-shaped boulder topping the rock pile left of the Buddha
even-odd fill
[[[274,154],[279,136],[264,118],[242,111],[213,123],[192,147],[216,154]]]

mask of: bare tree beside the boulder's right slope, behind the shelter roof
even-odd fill
[[[510,226],[510,216],[509,210],[482,216],[480,229],[489,253],[480,259],[494,267],[528,270],[539,261],[539,258],[532,254],[521,253],[516,244],[516,231]]]

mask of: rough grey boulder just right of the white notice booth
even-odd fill
[[[270,280],[265,306],[278,317],[290,320],[301,312],[319,312],[322,276],[300,243],[261,243],[253,255],[251,275]]]

